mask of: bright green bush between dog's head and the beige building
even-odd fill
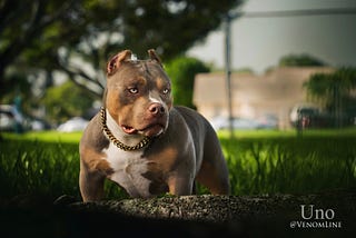
[[[195,76],[199,72],[209,72],[209,68],[198,59],[178,57],[167,63],[166,70],[172,82],[175,105],[195,108],[192,105]]]

